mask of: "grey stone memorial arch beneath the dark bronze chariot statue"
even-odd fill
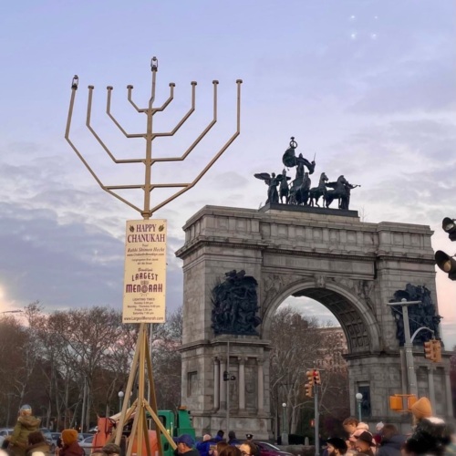
[[[363,389],[370,400],[366,420],[398,420],[389,395],[407,390],[407,369],[386,303],[407,284],[425,285],[437,302],[429,226],[362,223],[355,211],[271,203],[259,211],[205,206],[184,231],[176,253],[184,273],[181,401],[197,433],[226,430],[228,402],[229,428],[241,438],[245,431],[271,436],[271,316],[290,295],[315,299],[342,326],[351,413]],[[247,276],[257,283],[256,323],[241,334],[217,332],[214,289]],[[414,347],[414,361],[419,395],[452,417],[448,358],[430,363],[421,346]],[[225,370],[235,380],[223,381]]]

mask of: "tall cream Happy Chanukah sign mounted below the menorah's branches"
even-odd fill
[[[125,236],[123,323],[163,323],[166,220],[130,220]]]

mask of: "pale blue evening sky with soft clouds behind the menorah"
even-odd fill
[[[291,136],[330,180],[361,184],[350,209],[364,221],[420,223],[432,245],[456,253],[441,230],[456,217],[456,3],[446,0],[194,0],[5,2],[0,15],[0,312],[39,300],[46,310],[113,306],[122,300],[126,220],[140,214],[103,192],[64,139],[71,81],[79,88],[71,140],[107,185],[138,184],[141,165],[115,164],[85,126],[119,159],[142,158],[150,58],[158,57],[153,154],[180,156],[212,119],[190,157],[152,169],[152,181],[192,181],[235,130],[236,84],[243,79],[241,135],[202,181],[156,212],[169,223],[167,306],[182,302],[181,227],[206,204],[258,208],[265,186],[256,172],[281,171]],[[319,171],[317,172],[319,175]],[[313,186],[316,182],[313,182]],[[152,204],[171,193],[152,192]],[[141,192],[123,194],[137,205]],[[456,344],[456,283],[437,271],[442,333]],[[296,305],[292,298],[289,301]],[[309,316],[334,321],[300,300]]]

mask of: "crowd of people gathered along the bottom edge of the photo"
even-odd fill
[[[323,456],[451,456],[456,455],[456,434],[445,421],[432,415],[430,400],[421,398],[411,407],[413,428],[410,435],[402,435],[394,424],[379,422],[374,433],[368,424],[355,418],[344,420],[347,435],[326,440]],[[24,405],[19,410],[15,429],[0,450],[0,456],[50,456],[51,450],[45,436],[39,430],[40,420],[32,415],[32,409]],[[224,439],[223,430],[212,438],[205,434],[196,442],[190,434],[174,439],[175,455],[185,456],[261,456],[260,448],[254,443],[253,434],[238,440],[234,431]],[[120,448],[108,443],[93,456],[120,456]],[[57,441],[55,456],[85,456],[78,444],[78,431],[62,430]]]

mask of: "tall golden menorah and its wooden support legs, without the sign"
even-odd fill
[[[198,145],[198,143],[204,138],[204,136],[209,132],[209,130],[212,129],[212,127],[215,125],[217,121],[217,86],[218,86],[218,81],[214,80],[212,81],[213,85],[213,117],[211,122],[208,124],[208,126],[202,130],[202,133],[196,138],[193,142],[192,145],[185,150],[181,157],[161,157],[161,158],[153,158],[152,157],[152,141],[155,140],[156,138],[162,138],[162,137],[167,137],[167,136],[173,136],[183,125],[183,123],[189,119],[189,117],[192,115],[192,113],[195,110],[195,93],[196,93],[196,82],[192,81],[192,106],[188,110],[188,112],[182,117],[182,119],[178,122],[178,124],[168,132],[158,132],[155,133],[153,131],[153,116],[157,112],[162,112],[164,109],[168,107],[168,105],[171,103],[172,99],[174,98],[174,83],[170,83],[170,96],[169,98],[161,105],[160,108],[153,108],[153,103],[155,101],[155,81],[156,81],[156,75],[158,71],[158,60],[156,57],[152,57],[151,60],[151,72],[152,72],[152,82],[151,82],[151,95],[149,99],[149,104],[147,108],[139,108],[134,101],[131,98],[131,93],[133,90],[133,86],[128,86],[128,99],[133,106],[134,109],[136,109],[140,113],[146,114],[146,132],[145,133],[128,133],[126,130],[122,128],[122,126],[119,124],[117,119],[114,118],[114,116],[111,113],[111,94],[113,88],[111,86],[108,86],[108,96],[107,96],[107,104],[106,104],[106,112],[109,116],[109,118],[115,123],[115,125],[119,128],[119,130],[127,137],[127,138],[144,138],[146,140],[146,156],[145,158],[133,158],[133,159],[122,159],[119,160],[117,159],[114,154],[109,150],[109,148],[106,146],[106,144],[101,140],[101,138],[98,136],[98,133],[93,129],[90,119],[91,119],[91,109],[92,109],[92,98],[93,98],[93,86],[88,86],[88,108],[87,108],[87,118],[86,118],[86,125],[88,127],[88,130],[93,134],[96,140],[98,140],[99,145],[103,150],[105,150],[109,158],[114,161],[114,163],[143,163],[144,168],[145,168],[145,178],[144,178],[144,183],[134,183],[131,185],[105,185],[97,176],[97,174],[92,170],[90,165],[88,164],[88,161],[84,159],[82,154],[79,152],[78,148],[76,145],[73,143],[72,140],[69,139],[69,131],[71,127],[71,119],[73,116],[73,108],[75,104],[75,98],[76,98],[76,92],[78,90],[78,76],[75,76],[73,78],[72,84],[71,84],[71,98],[69,102],[69,109],[68,109],[68,117],[67,117],[67,129],[65,131],[65,139],[68,141],[69,145],[71,148],[76,152],[78,155],[80,161],[82,161],[85,165],[85,167],[88,169],[88,172],[92,175],[92,177],[95,179],[95,181],[98,182],[98,185],[105,191],[109,192],[111,195],[115,196],[117,199],[119,199],[121,202],[124,202],[125,204],[129,205],[132,209],[140,212],[141,216],[143,219],[147,220],[150,219],[150,216],[152,213],[158,211],[163,207],[165,204],[168,204],[168,202],[171,202],[178,196],[180,196],[182,193],[187,192],[190,190],[192,187],[196,185],[198,181],[202,178],[202,176],[212,167],[213,163],[217,161],[223,154],[225,150],[228,149],[228,147],[233,143],[233,140],[235,140],[239,134],[240,134],[240,128],[241,128],[241,84],[242,80],[238,79],[236,80],[236,85],[237,85],[237,120],[236,120],[236,130],[233,133],[233,136],[227,140],[222,148],[212,157],[212,160],[209,161],[209,163],[206,164],[204,169],[193,179],[191,182],[186,182],[186,183],[181,183],[181,182],[173,182],[173,183],[152,183],[151,181],[151,167],[155,163],[159,162],[165,162],[165,161],[184,161],[189,154],[192,152],[192,150],[195,149],[195,147]],[[168,199],[159,202],[155,204],[152,208],[150,208],[150,193],[154,189],[158,188],[180,188],[178,192],[175,192],[174,194],[171,195]],[[128,201],[126,198],[122,197],[119,195],[118,192],[116,191],[121,191],[121,190],[143,190],[144,192],[144,204],[142,209],[135,205],[133,202]],[[156,423],[157,426],[157,440],[158,440],[158,445],[159,445],[159,453],[162,455],[162,448],[161,448],[161,433],[166,437],[166,439],[170,442],[172,448],[175,448],[175,443],[171,439],[171,436],[167,432],[167,430],[163,427],[161,424],[161,421],[159,420],[157,416],[157,401],[155,397],[155,387],[154,387],[154,382],[153,382],[153,373],[152,373],[152,366],[151,366],[151,361],[150,361],[150,348],[148,344],[148,337],[147,337],[147,331],[146,331],[146,324],[141,323],[140,324],[140,331],[138,335],[138,341],[133,357],[133,362],[131,365],[130,369],[130,376],[129,376],[129,381],[127,384],[127,388],[125,390],[125,398],[130,398],[130,393],[133,388],[133,383],[135,381],[136,375],[138,373],[138,398],[134,402],[133,406],[128,407],[128,400],[124,400],[120,418],[119,418],[119,423],[116,427],[114,436],[115,436],[115,441],[116,443],[119,444],[121,435],[122,435],[122,429],[124,423],[130,419],[131,415],[133,412],[136,412],[134,414],[134,420],[133,420],[133,425],[131,429],[131,435],[130,435],[130,440],[129,440],[129,445],[127,449],[127,456],[131,455],[132,448],[133,448],[133,441],[136,439],[138,440],[138,448],[137,448],[137,454],[138,456],[141,456],[142,453],[142,445],[140,444],[140,441],[142,439],[145,440],[146,442],[146,451],[148,456],[150,456],[150,441],[149,441],[149,436],[148,436],[148,429],[147,429],[147,423],[146,423],[146,412],[149,411],[151,417]],[[150,404],[148,401],[145,399],[144,396],[144,391],[145,391],[145,384],[146,384],[146,373],[149,379],[149,395],[150,395]]]

